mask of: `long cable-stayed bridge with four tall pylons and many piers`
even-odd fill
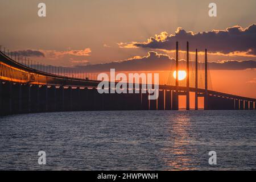
[[[189,73],[189,43],[187,42],[187,73]],[[25,61],[26,63],[26,61]],[[195,110],[198,98],[204,98],[204,110],[254,110],[255,98],[235,96],[208,89],[208,58],[205,49],[204,88],[198,86],[198,55],[195,59],[195,86],[180,86],[179,43],[176,42],[175,84],[159,85],[158,100],[148,100],[148,93],[100,94],[100,81],[89,78],[74,78],[39,69],[39,65],[26,65],[16,55],[0,49],[0,115],[38,113],[51,111],[91,110],[179,110],[179,96],[186,97],[186,109],[190,109],[189,93],[195,93]],[[42,67],[42,65],[41,65]],[[49,68],[51,69],[51,68]],[[58,72],[58,74],[57,74]],[[62,71],[61,71],[62,72]],[[135,88],[135,86],[133,87]],[[111,88],[109,88],[111,89]],[[139,89],[143,85],[139,84]]]

